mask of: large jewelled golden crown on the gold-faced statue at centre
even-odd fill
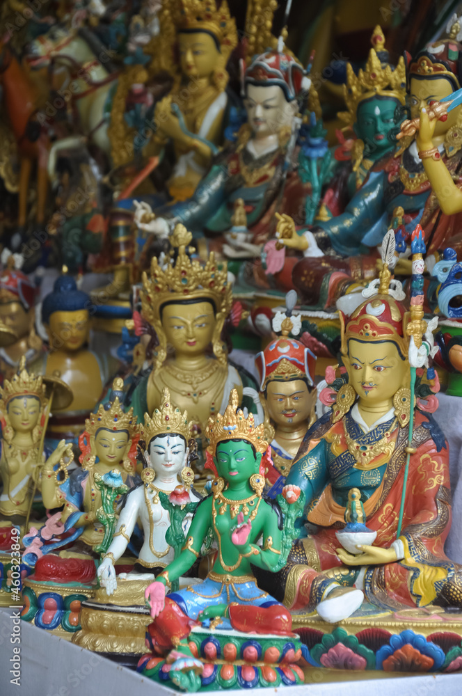
[[[177,260],[169,260],[161,267],[157,258],[151,261],[150,278],[143,273],[141,290],[141,314],[150,324],[160,319],[161,306],[167,301],[184,301],[191,298],[211,299],[217,313],[228,315],[232,306],[232,287],[228,283],[226,263],[218,264],[214,253],[202,266],[198,260],[189,258],[186,246],[193,235],[184,225],[178,224],[170,235],[170,244],[178,248]]]

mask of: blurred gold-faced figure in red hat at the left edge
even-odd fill
[[[26,367],[35,369],[43,354],[43,343],[35,333],[35,301],[37,287],[19,269],[19,254],[8,255],[6,268],[0,274],[0,373],[11,379],[22,356]]]

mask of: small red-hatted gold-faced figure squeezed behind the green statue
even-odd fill
[[[292,461],[308,427],[315,420],[317,389],[314,384],[316,357],[303,343],[289,338],[300,333],[301,319],[292,314],[296,292],[286,296],[287,311],[276,313],[273,330],[280,331],[255,358],[260,374],[260,398],[266,406],[266,433],[271,443],[273,466],[265,473],[271,485],[278,482],[280,492]],[[270,493],[271,497],[273,493]]]

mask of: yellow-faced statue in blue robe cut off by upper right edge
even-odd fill
[[[438,40],[408,61],[408,101],[411,123],[417,119],[417,128],[422,108],[431,109],[433,102],[449,98],[454,90],[459,90],[461,55],[461,44],[450,38]],[[381,79],[379,72],[374,74],[376,77],[369,75],[372,85]],[[407,233],[416,223],[424,229],[427,256],[436,254],[439,258],[439,252],[447,246],[459,251],[459,193],[452,177],[457,176],[462,157],[458,135],[461,106],[458,104],[446,117],[432,117],[431,124],[427,116],[424,113],[427,120],[417,139],[416,127],[402,124],[406,136],[399,149],[372,166],[342,214],[317,221],[299,232],[293,226],[290,234],[278,240],[288,248],[302,251],[305,258],[294,265],[292,280],[311,305],[319,301],[320,290],[326,285],[339,282],[340,273],[346,280],[351,276],[365,277],[363,271],[370,266],[371,251],[376,257],[375,247],[381,244],[398,207],[402,209]],[[445,193],[446,186],[451,195]],[[359,262],[355,258],[358,255]],[[409,267],[403,270],[411,274]]]

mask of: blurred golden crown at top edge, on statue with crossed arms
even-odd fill
[[[225,54],[229,55],[237,45],[236,22],[225,0],[219,9],[215,0],[180,0],[173,4],[170,15],[177,31],[196,29],[212,33]]]

